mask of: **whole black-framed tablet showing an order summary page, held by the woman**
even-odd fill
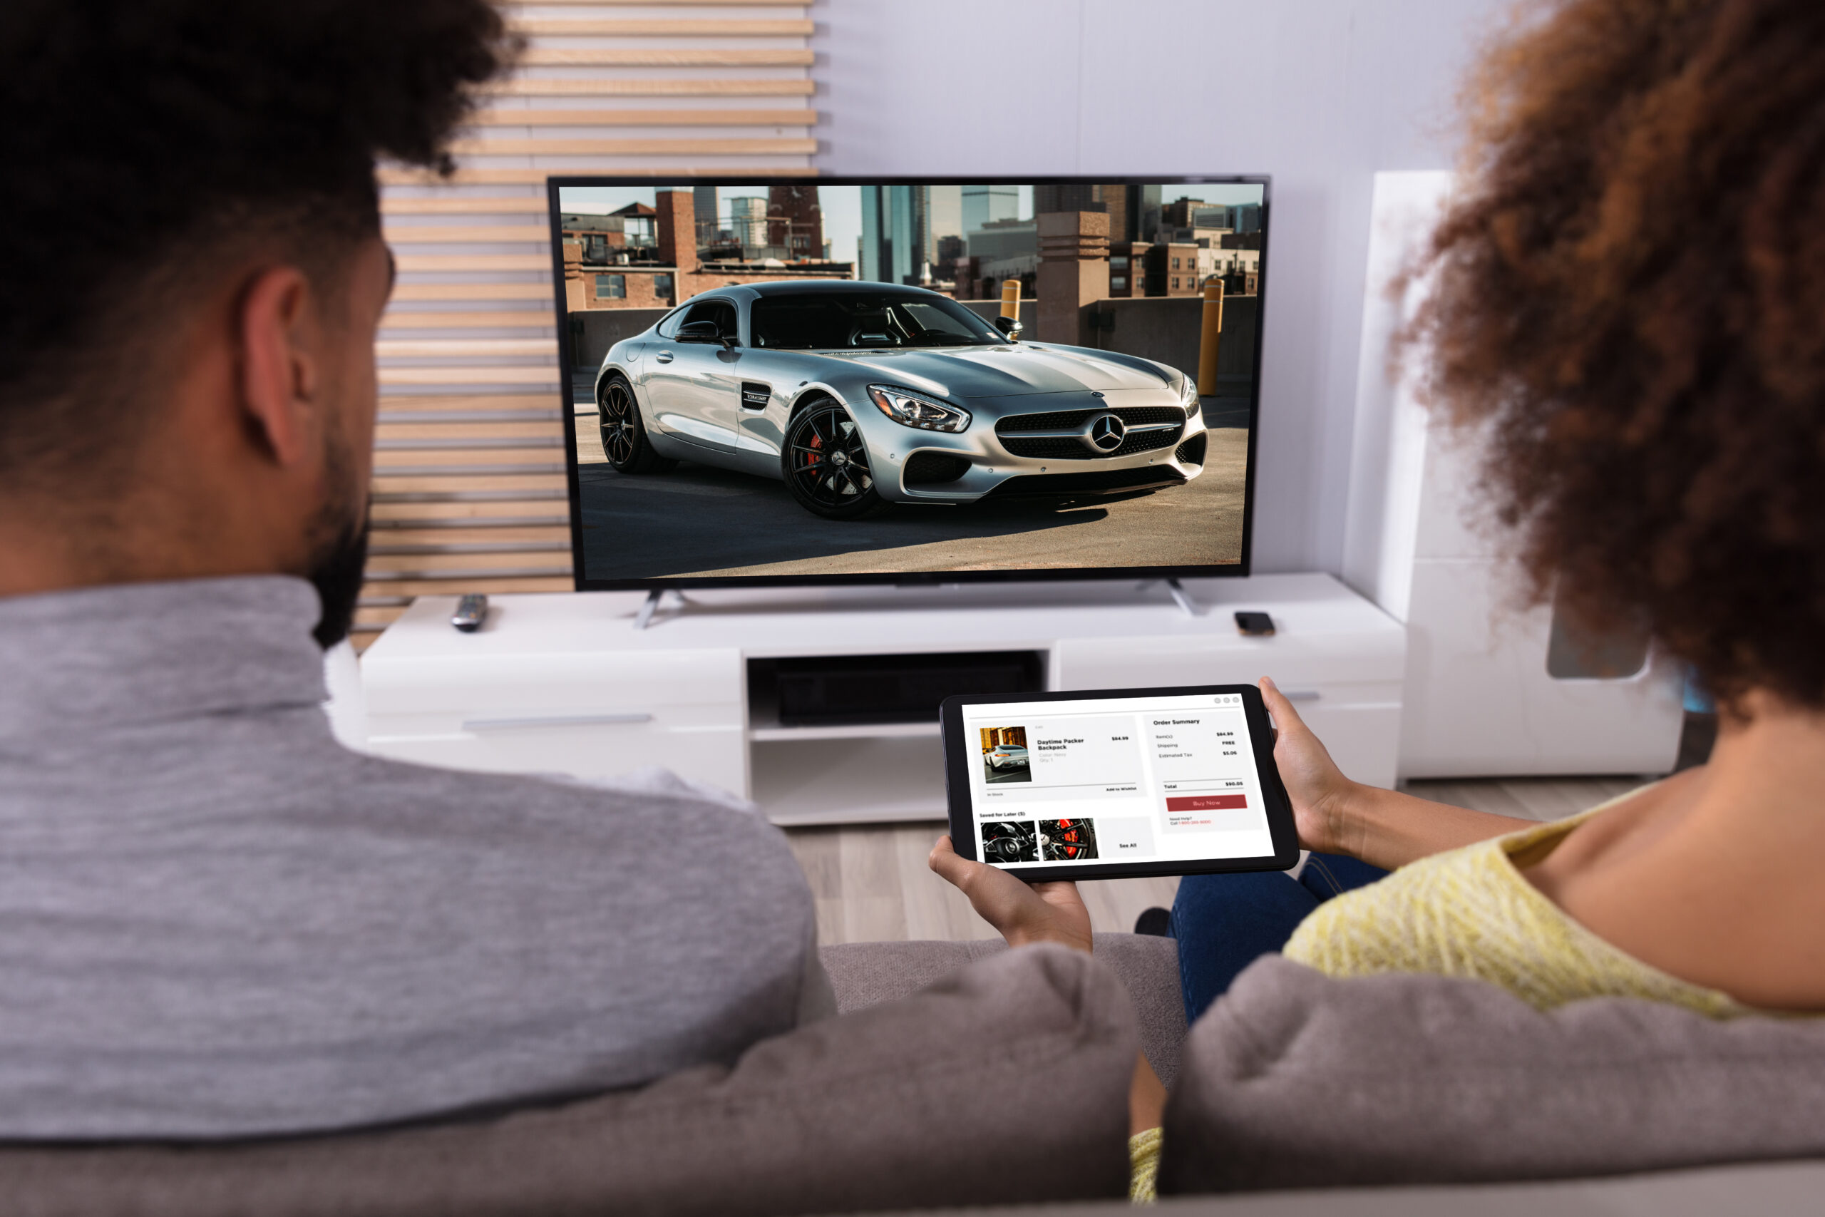
[[[951,697],[951,843],[1022,879],[1287,870],[1299,859],[1252,684]]]

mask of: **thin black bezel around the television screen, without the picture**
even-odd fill
[[[577,452],[575,352],[564,294],[564,237],[560,192],[571,186],[1261,186],[1261,257],[1256,281],[1254,381],[1248,390],[1248,452],[1243,471],[1243,546],[1234,564],[1194,566],[1088,566],[1007,571],[869,571],[843,575],[648,575],[637,578],[589,578],[582,547],[582,465]],[[668,591],[688,588],[841,588],[841,586],[938,586],[1013,582],[1090,582],[1161,578],[1246,578],[1254,553],[1256,445],[1261,432],[1261,350],[1267,330],[1268,250],[1274,181],[1270,173],[1163,173],[1163,175],[1042,175],[1042,177],[737,177],[706,173],[553,173],[546,179],[546,219],[551,234],[551,296],[558,332],[558,385],[564,401],[564,482],[569,494],[571,584],[577,591]],[[1181,369],[1184,370],[1184,369]]]

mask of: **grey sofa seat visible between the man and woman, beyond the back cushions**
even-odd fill
[[[823,947],[823,971],[836,989],[836,1007],[856,1011],[894,1002],[949,976],[975,960],[1007,951],[1004,941],[852,941]],[[1148,934],[1097,934],[1097,960],[1115,973],[1141,1020],[1141,1051],[1153,1073],[1172,1086],[1184,1042],[1184,998],[1179,991],[1179,943]]]

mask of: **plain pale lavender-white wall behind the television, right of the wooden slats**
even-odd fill
[[[1376,170],[1509,0],[818,0],[825,173],[1272,173],[1257,571],[1340,573]]]

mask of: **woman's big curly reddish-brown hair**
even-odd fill
[[[1825,708],[1825,4],[1528,18],[1471,84],[1427,392],[1535,597]]]

